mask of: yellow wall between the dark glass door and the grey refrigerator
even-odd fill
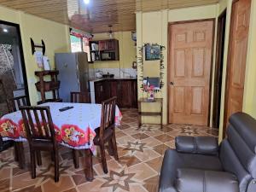
[[[54,68],[55,53],[70,51],[69,26],[50,20],[44,20],[14,9],[7,9],[2,6],[0,6],[0,13],[0,20],[20,25],[30,100],[32,104],[36,104],[36,102],[40,100],[38,91],[35,88],[37,79],[34,75],[34,72],[38,70],[38,66],[31,52],[30,38],[32,38],[35,43],[40,43],[41,39],[44,39],[46,46],[45,54],[49,56],[51,67]]]

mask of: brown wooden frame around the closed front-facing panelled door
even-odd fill
[[[186,24],[186,23],[194,23],[194,22],[203,22],[203,21],[212,21],[212,56],[211,56],[211,67],[210,67],[210,83],[209,83],[209,105],[208,105],[208,118],[207,118],[207,125],[210,125],[210,117],[211,117],[211,102],[212,102],[212,66],[213,66],[213,53],[214,53],[214,40],[215,40],[215,23],[216,23],[216,18],[207,18],[207,19],[201,19],[201,20],[179,20],[179,21],[173,21],[173,22],[168,22],[168,44],[167,44],[167,124],[170,122],[170,79],[171,79],[171,74],[169,73],[170,70],[170,62],[171,62],[171,55],[169,54],[169,50],[171,49],[171,37],[172,37],[172,32],[170,30],[172,25],[177,25],[177,24]]]

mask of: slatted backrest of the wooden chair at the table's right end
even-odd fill
[[[102,118],[100,127],[100,139],[103,138],[104,131],[114,128],[115,125],[115,108],[116,108],[116,96],[102,102]]]

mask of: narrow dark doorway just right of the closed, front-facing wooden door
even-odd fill
[[[212,105],[212,127],[219,128],[220,108],[221,108],[221,87],[223,77],[223,64],[224,64],[224,39],[225,39],[225,25],[226,25],[227,9],[218,16],[217,26],[217,42],[216,42],[216,61],[214,73],[214,89],[213,89],[213,105]],[[224,23],[223,23],[224,20]],[[224,24],[224,26],[223,26]],[[222,49],[222,51],[221,51]],[[215,86],[219,84],[219,87]]]

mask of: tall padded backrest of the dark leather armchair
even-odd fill
[[[247,113],[232,114],[219,156],[224,170],[238,178],[240,191],[247,191],[256,179],[256,119]]]

